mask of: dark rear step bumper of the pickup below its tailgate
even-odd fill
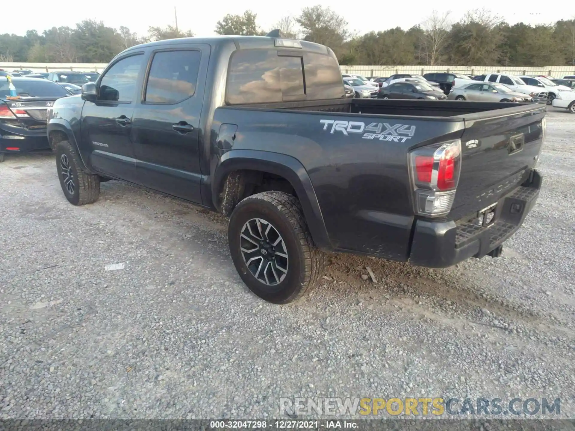
[[[469,257],[483,257],[503,244],[523,224],[535,205],[542,176],[532,170],[530,179],[497,202],[494,222],[482,227],[470,222],[417,220],[409,262],[429,268],[446,268]]]

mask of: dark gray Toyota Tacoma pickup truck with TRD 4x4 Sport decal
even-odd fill
[[[539,194],[545,114],[346,99],[331,49],[270,34],[129,48],[54,103],[48,137],[72,204],[116,179],[219,211],[241,279],[286,303],[323,251],[434,268],[499,256]]]

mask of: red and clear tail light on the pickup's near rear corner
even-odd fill
[[[448,214],[461,172],[461,140],[417,148],[409,153],[409,165],[416,213]]]

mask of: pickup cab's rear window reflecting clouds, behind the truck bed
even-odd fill
[[[344,97],[342,74],[332,57],[292,52],[278,55],[275,49],[244,49],[233,53],[227,102],[240,105]]]

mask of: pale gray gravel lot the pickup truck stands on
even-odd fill
[[[333,255],[286,306],[241,283],[223,218],[114,181],[74,207],[52,155],[7,157],[0,418],[274,418],[281,397],[406,396],[561,398],[575,418],[575,116],[547,118],[544,187],[503,257]]]

